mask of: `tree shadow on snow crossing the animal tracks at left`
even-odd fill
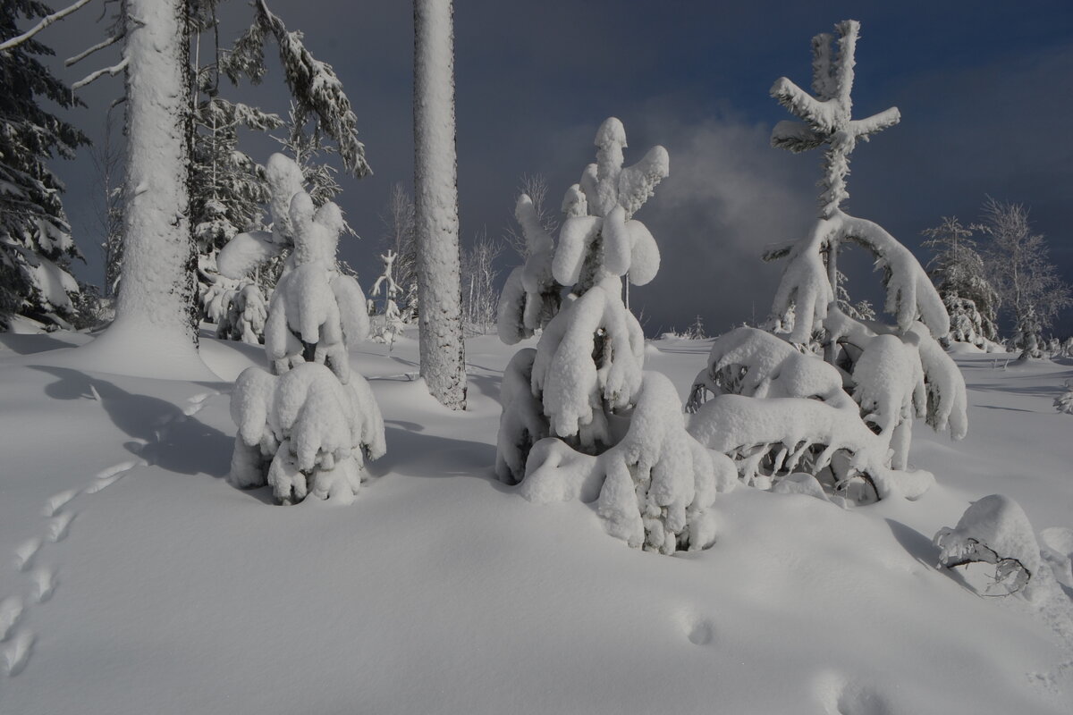
[[[132,437],[123,446],[149,464],[186,475],[223,477],[230,471],[234,437],[183,414],[171,402],[128,392],[78,370],[29,367],[58,378],[45,387],[45,394],[53,399],[99,398],[112,423]]]

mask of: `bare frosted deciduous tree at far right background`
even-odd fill
[[[1046,239],[1032,233],[1023,205],[994,198],[984,204],[983,220],[973,228],[989,239],[987,274],[1013,319],[1014,347],[1023,358],[1042,357],[1043,330],[1073,304],[1070,286],[1050,263]]]

